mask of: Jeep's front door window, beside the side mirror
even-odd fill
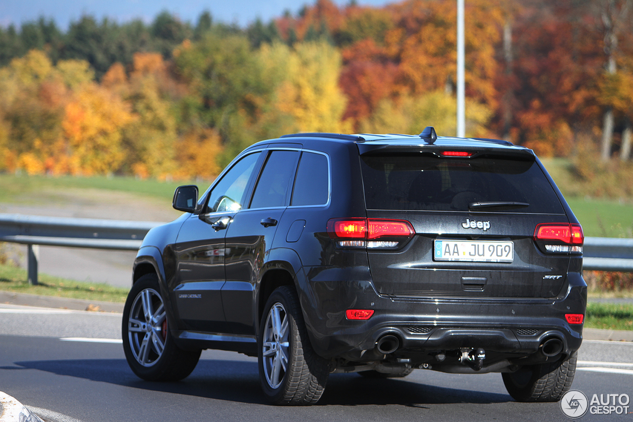
[[[241,158],[209,193],[206,212],[233,212],[242,208],[244,191],[259,153]]]

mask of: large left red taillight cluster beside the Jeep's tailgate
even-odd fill
[[[330,219],[327,233],[341,247],[394,249],[413,237],[415,231],[406,220],[361,218]]]

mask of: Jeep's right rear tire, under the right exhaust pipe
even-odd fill
[[[558,402],[572,387],[577,355],[567,361],[526,365],[513,373],[503,373],[503,383],[518,402]]]

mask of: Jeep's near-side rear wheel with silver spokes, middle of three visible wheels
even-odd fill
[[[258,350],[261,387],[270,402],[296,406],[320,399],[330,364],[312,349],[299,298],[291,287],[281,286],[268,298]]]

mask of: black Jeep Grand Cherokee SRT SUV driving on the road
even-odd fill
[[[315,403],[336,372],[499,372],[520,401],[571,386],[584,237],[527,148],[432,127],[287,135],[173,207],[123,313],[145,380],[180,380],[215,348],[258,356],[277,404]]]

